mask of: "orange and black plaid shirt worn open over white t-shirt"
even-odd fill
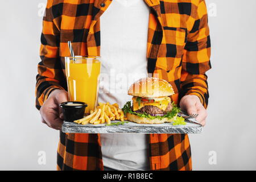
[[[170,82],[179,104],[193,94],[208,104],[205,72],[210,69],[210,37],[204,0],[144,0],[150,7],[147,39],[148,73]],[[67,90],[64,57],[70,40],[76,55],[100,56],[100,16],[112,0],[48,0],[43,18],[36,107],[53,89]],[[136,28],[136,27],[134,27]],[[127,63],[129,64],[129,63]],[[191,170],[187,134],[148,134],[152,170]],[[100,134],[60,131],[59,170],[102,170]]]

